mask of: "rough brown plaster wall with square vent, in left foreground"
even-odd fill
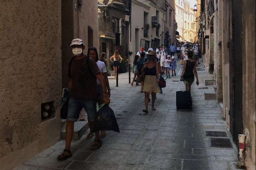
[[[2,170],[15,167],[59,139],[60,7],[61,0],[1,1]],[[55,101],[56,116],[41,122],[41,103],[49,101]]]

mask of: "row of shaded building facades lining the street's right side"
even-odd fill
[[[246,135],[244,166],[255,169],[255,1],[201,0],[203,62],[215,80],[216,102],[239,148]]]

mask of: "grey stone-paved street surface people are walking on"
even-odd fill
[[[221,108],[214,100],[204,99],[202,65],[200,85],[192,85],[192,110],[176,110],[179,76],[167,79],[163,94],[157,94],[155,108],[143,115],[144,94],[139,86],[128,84],[128,73],[119,75],[119,87],[110,79],[111,104],[121,133],[107,131],[99,150],[92,151],[93,139],[85,134],[72,143],[73,157],[57,161],[64,140],[25,162],[15,170],[234,170],[237,149],[232,142]],[[177,67],[177,74],[181,66]],[[134,83],[135,84],[135,83]],[[151,105],[149,105],[151,108]],[[206,131],[224,131],[233,148],[210,147]],[[88,132],[87,132],[88,133]]]

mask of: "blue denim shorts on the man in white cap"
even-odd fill
[[[94,122],[96,117],[96,100],[78,100],[70,97],[67,109],[67,121],[77,121],[82,108],[87,113],[88,121]]]

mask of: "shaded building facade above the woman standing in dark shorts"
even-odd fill
[[[122,58],[128,58],[129,4],[130,0],[99,0],[99,51],[105,52],[107,59],[115,50]]]

